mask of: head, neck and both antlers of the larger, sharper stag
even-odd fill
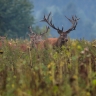
[[[65,16],[72,23],[72,26],[68,30],[64,31],[63,30],[64,29],[63,27],[62,27],[62,29],[60,29],[59,27],[56,28],[54,26],[54,24],[52,23],[52,18],[51,18],[51,20],[49,20],[50,19],[50,15],[51,15],[51,12],[48,14],[47,17],[45,17],[45,15],[44,15],[43,20],[41,20],[41,21],[46,22],[53,29],[57,30],[57,32],[60,34],[60,37],[58,38],[58,41],[57,41],[57,46],[62,46],[62,45],[65,44],[65,42],[68,41],[67,34],[70,33],[71,31],[75,30],[75,28],[77,26],[77,21],[79,19],[76,16],[72,16],[72,19],[69,19],[69,18],[67,18]]]

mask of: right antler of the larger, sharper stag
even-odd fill
[[[66,17],[66,16],[65,16],[65,17]],[[72,19],[69,19],[68,17],[66,17],[66,18],[72,23],[72,27],[65,31],[66,33],[69,33],[70,31],[75,30],[75,28],[76,28],[76,26],[77,26],[77,23],[78,23],[77,21],[78,21],[80,18],[77,18],[77,16],[72,16]]]

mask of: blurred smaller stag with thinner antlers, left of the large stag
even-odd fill
[[[46,30],[43,33],[40,34],[36,34],[32,31],[32,28],[29,27],[29,31],[31,32],[31,34],[28,34],[30,37],[30,41],[31,41],[31,46],[34,48],[44,48],[44,41],[43,40],[43,36],[48,32],[49,30],[49,26],[46,26]]]

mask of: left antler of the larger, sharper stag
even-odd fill
[[[49,20],[50,19],[50,15],[51,15],[51,12],[48,14],[47,17],[45,17],[45,15],[44,15],[43,20],[41,20],[41,21],[46,22],[48,25],[50,25],[52,28],[54,28],[57,31],[63,31],[63,27],[62,27],[62,30],[60,30],[59,28],[56,28],[54,26],[54,24],[52,24],[52,18],[51,18],[51,20]]]

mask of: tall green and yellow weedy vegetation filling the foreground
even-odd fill
[[[95,96],[95,44],[69,40],[62,49],[30,50],[27,40],[6,41],[0,54],[0,96]]]

